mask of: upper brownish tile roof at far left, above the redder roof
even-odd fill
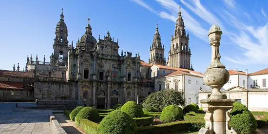
[[[0,70],[0,76],[4,76],[4,77],[33,77],[33,73],[32,72]]]

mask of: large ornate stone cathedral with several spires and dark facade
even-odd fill
[[[0,101],[79,100],[101,109],[126,101],[141,103],[159,91],[155,90],[159,86],[155,86],[155,78],[180,68],[193,71],[189,34],[186,35],[181,12],[178,14],[167,62],[156,24],[146,63],[139,54],[120,52],[118,39],[114,40],[109,31],[104,38],[98,35],[96,39],[90,19],[85,33],[75,43],[69,42],[62,9],[50,61],[45,56],[39,60],[38,55],[35,59],[30,55],[25,70],[19,70],[19,64],[17,70],[15,64],[13,71],[0,70],[0,96],[4,96]],[[171,69],[162,71],[163,68]]]

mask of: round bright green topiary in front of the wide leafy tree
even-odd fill
[[[160,120],[163,121],[176,121],[183,119],[183,111],[180,107],[169,105],[162,111]]]

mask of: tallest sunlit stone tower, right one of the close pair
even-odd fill
[[[176,20],[174,36],[171,36],[171,46],[167,66],[191,69],[191,49],[189,48],[189,33],[186,35],[184,21],[179,16]]]

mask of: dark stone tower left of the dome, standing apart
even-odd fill
[[[65,66],[68,62],[68,30],[64,22],[63,9],[61,9],[60,19],[57,22],[55,39],[53,44],[54,53],[50,57],[52,65]]]

